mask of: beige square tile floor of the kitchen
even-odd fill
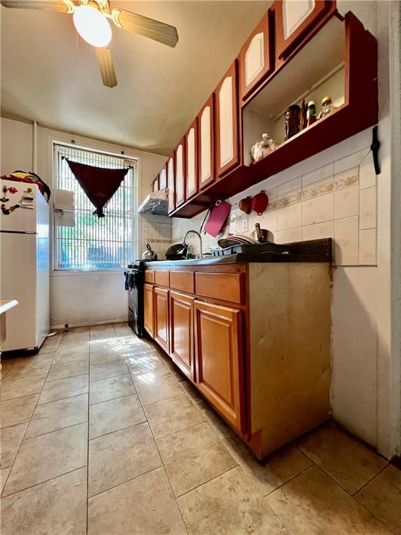
[[[327,424],[244,444],[127,325],[4,359],[2,535],[401,534],[401,472]]]

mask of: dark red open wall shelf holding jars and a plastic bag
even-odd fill
[[[284,140],[285,109],[331,95],[336,107]],[[227,199],[269,176],[320,153],[377,123],[377,41],[351,13],[336,12],[288,61],[272,72],[252,97],[238,105],[239,164],[172,212],[193,217],[217,199]],[[253,162],[251,147],[262,134],[276,148]]]

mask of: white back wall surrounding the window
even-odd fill
[[[1,174],[33,167],[33,125],[1,119]],[[132,148],[82,138],[65,132],[38,127],[38,174],[52,188],[52,140],[72,139],[77,145],[139,158],[139,202],[162,168],[166,157],[143,153]],[[141,219],[139,220],[141,222]],[[141,229],[140,229],[141,235]],[[141,241],[141,240],[140,240]],[[134,260],[134,258],[133,258]],[[52,272],[50,277],[50,323],[53,327],[94,325],[127,320],[127,292],[123,270],[116,272]]]

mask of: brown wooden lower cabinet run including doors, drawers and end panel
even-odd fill
[[[257,458],[329,419],[328,263],[171,267],[146,330]]]

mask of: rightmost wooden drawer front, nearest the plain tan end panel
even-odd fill
[[[243,273],[195,273],[195,293],[233,303],[244,302]]]

